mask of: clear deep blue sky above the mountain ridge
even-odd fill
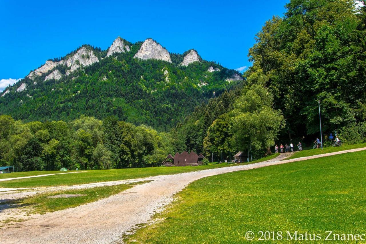
[[[169,52],[194,48],[225,67],[247,67],[255,34],[273,15],[283,15],[285,3],[0,0],[0,90],[47,59],[82,44],[107,49],[117,36],[131,42],[152,37]]]

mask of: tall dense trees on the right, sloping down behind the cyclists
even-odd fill
[[[366,139],[365,7],[347,0],[292,0],[267,21],[249,50],[243,88],[223,93],[176,129],[178,149],[214,154],[277,143],[309,145],[335,131],[347,143]],[[267,150],[266,150],[267,148]],[[221,158],[219,159],[221,160]]]

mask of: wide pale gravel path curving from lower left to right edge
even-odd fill
[[[16,223],[1,231],[6,240],[1,239],[0,243],[115,243],[137,224],[149,221],[155,212],[162,211],[172,202],[174,194],[200,178],[365,149],[282,161],[283,158],[275,158],[261,163],[156,176],[151,182],[97,202]]]

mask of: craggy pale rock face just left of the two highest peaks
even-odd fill
[[[88,66],[97,62],[99,62],[99,59],[94,55],[94,52],[82,47],[73,56],[69,57],[65,64],[67,67],[71,67],[70,71],[72,72],[77,70],[80,65]]]

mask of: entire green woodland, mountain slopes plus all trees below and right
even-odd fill
[[[1,97],[1,164],[147,167],[176,151],[226,157],[249,148],[260,158],[277,141],[306,146],[319,137],[318,100],[323,136],[336,131],[343,142],[365,141],[365,7],[353,0],[291,0],[285,8],[255,36],[243,81],[226,82],[236,71],[215,62],[179,66],[184,54],[171,53],[172,63],[134,59],[138,42],[75,79],[36,78],[41,84],[28,91],[31,97]],[[210,66],[221,71],[209,73]]]

